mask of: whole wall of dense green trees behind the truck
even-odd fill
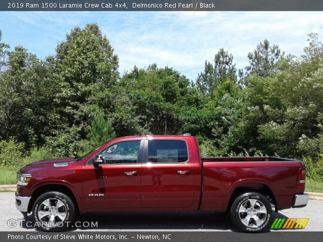
[[[1,42],[1,41],[0,41]],[[203,156],[278,155],[323,179],[323,45],[304,55],[260,42],[245,72],[223,48],[196,82],[169,68],[120,75],[96,24],[74,28],[40,61],[0,43],[0,164],[80,155],[127,135],[196,136]]]

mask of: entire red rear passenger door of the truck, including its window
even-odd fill
[[[153,150],[152,146],[155,146]],[[194,160],[189,157],[193,155],[187,153],[187,161],[183,162],[185,152],[176,144],[161,144],[149,140],[145,141],[144,147],[146,163],[141,170],[141,207],[191,207],[195,189],[195,168]],[[187,147],[185,143],[185,149]],[[176,162],[178,160],[182,162]]]

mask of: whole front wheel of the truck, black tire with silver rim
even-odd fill
[[[72,226],[75,205],[64,193],[47,192],[36,199],[32,207],[32,217],[34,226],[42,231],[62,231]]]

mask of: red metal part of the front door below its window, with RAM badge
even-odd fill
[[[125,174],[132,171],[137,174]],[[86,181],[83,183],[85,207],[139,208],[140,176],[141,164],[86,166]]]

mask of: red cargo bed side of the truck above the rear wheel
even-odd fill
[[[235,189],[272,191],[277,209],[291,207],[301,161],[280,157],[202,157],[202,210],[225,211]]]

